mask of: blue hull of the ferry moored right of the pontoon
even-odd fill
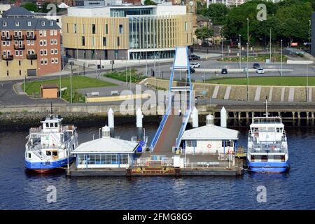
[[[249,162],[248,169],[260,173],[283,173],[290,169],[288,162]]]

